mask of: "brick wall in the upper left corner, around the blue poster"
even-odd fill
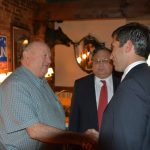
[[[34,4],[32,0],[0,0],[0,35],[7,39],[7,68],[0,68],[0,73],[12,71],[13,38],[12,27],[27,29],[33,32]]]

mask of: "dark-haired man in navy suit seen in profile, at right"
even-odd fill
[[[150,31],[129,23],[113,34],[115,70],[124,72],[115,95],[105,109],[100,150],[150,150]]]

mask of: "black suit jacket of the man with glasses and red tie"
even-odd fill
[[[94,74],[75,81],[71,104],[69,130],[84,132],[94,128],[98,130],[98,116],[95,96]],[[113,75],[114,90],[120,78]]]

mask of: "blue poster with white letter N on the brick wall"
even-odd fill
[[[7,69],[7,38],[4,35],[0,35],[0,72],[5,72]]]

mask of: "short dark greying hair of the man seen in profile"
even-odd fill
[[[128,40],[130,40],[134,47],[135,53],[144,58],[148,58],[150,53],[150,29],[140,23],[129,23],[117,28],[112,37],[120,42],[122,47]]]

